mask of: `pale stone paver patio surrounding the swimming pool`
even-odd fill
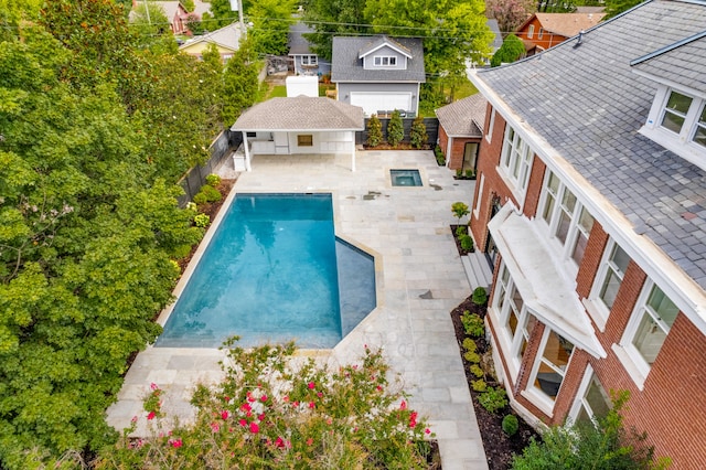
[[[451,204],[470,205],[474,182],[453,180],[430,151],[359,151],[357,171],[350,164],[343,156],[258,156],[234,191],[333,194],[336,235],[376,255],[378,308],[334,348],[332,360],[354,362],[364,344],[383,346],[413,395],[410,406],[437,434],[443,469],[486,469],[449,317],[470,295],[449,228],[457,222]],[[393,168],[418,169],[424,186],[392,186]],[[148,348],[128,372],[108,423],[122,428],[145,415],[141,399],[151,382],[165,389],[163,409],[188,418],[193,383],[217,381],[222,357],[216,350]]]

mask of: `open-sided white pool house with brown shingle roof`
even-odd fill
[[[365,128],[363,109],[325,97],[271,98],[235,121],[243,132],[243,150],[235,168],[252,170],[257,154],[344,153],[355,171],[355,132]]]

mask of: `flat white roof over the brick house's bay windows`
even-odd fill
[[[595,357],[606,357],[574,281],[557,267],[537,222],[509,202],[488,227],[531,313]]]

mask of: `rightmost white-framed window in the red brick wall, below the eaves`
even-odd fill
[[[664,344],[680,309],[654,282],[642,289],[621,345],[646,377]]]

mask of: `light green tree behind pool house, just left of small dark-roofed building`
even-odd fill
[[[249,35],[258,55],[286,55],[291,12],[296,0],[260,0],[248,10],[253,22]]]

